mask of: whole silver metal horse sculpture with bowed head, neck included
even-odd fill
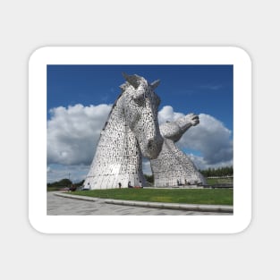
[[[163,145],[157,122],[160,99],[154,90],[159,81],[148,83],[139,75],[123,73],[122,92],[100,134],[98,148],[84,188],[145,186],[142,157],[157,158]]]

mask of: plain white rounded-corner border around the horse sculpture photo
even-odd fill
[[[47,64],[233,64],[233,216],[47,216]],[[251,219],[251,62],[239,47],[42,47],[29,64],[29,218],[40,233],[240,233]]]

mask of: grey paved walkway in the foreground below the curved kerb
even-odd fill
[[[86,198],[84,198],[86,199]],[[138,206],[116,205],[106,203],[106,199],[94,199],[87,201],[70,199],[55,195],[55,192],[47,192],[47,215],[233,215],[233,213],[216,211],[192,211],[187,209],[147,208]],[[107,201],[109,202],[109,201]],[[112,201],[111,201],[112,202]]]

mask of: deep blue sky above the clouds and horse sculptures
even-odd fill
[[[233,65],[48,65],[47,109],[112,104],[122,72],[160,80],[159,110],[169,105],[179,112],[205,113],[233,130]]]

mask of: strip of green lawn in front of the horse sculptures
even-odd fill
[[[110,189],[70,193],[101,199],[233,205],[233,189]]]

